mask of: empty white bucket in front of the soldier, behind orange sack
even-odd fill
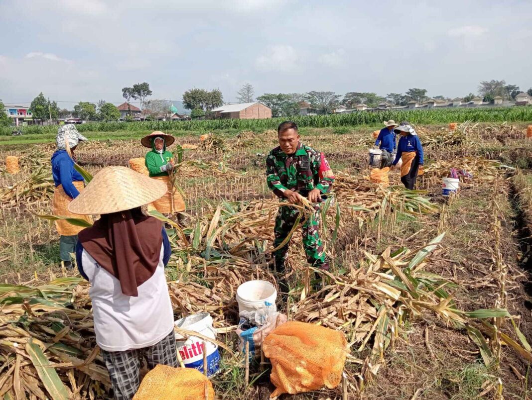
[[[261,309],[268,311],[268,306],[272,312],[275,312],[277,311],[275,299],[277,299],[275,286],[265,280],[248,280],[236,290],[238,313]]]

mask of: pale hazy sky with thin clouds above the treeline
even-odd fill
[[[152,98],[219,88],[226,102],[247,82],[255,96],[526,91],[531,20],[528,0],[0,0],[0,99],[72,109],[145,81]]]

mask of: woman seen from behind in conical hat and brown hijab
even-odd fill
[[[178,366],[164,276],[170,243],[162,223],[140,210],[166,191],[162,182],[129,168],[106,167],[69,206],[76,214],[101,215],[79,233],[76,261],[90,282],[96,343],[115,399],[137,392],[141,358],[149,369]]]

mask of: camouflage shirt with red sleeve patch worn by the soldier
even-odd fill
[[[323,168],[322,167],[323,163]],[[320,173],[320,169],[325,173]],[[289,189],[306,195],[312,189],[328,193],[334,182],[334,176],[322,155],[304,144],[298,143],[296,152],[288,156],[280,147],[276,147],[266,159],[266,180],[268,187],[280,198]]]

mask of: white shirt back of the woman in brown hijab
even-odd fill
[[[120,282],[83,250],[81,265],[89,278],[96,343],[106,351],[152,346],[173,330],[173,311],[164,276],[164,244],[151,278],[138,286],[138,296],[122,293]]]

